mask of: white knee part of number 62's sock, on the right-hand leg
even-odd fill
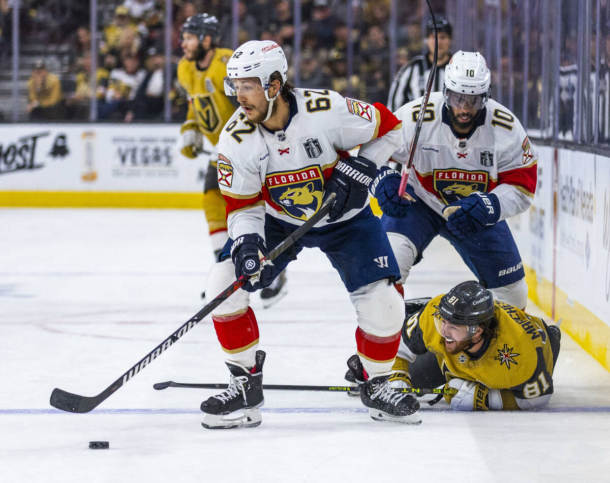
[[[358,326],[367,334],[390,337],[404,321],[404,301],[387,279],[378,280],[350,293]]]

